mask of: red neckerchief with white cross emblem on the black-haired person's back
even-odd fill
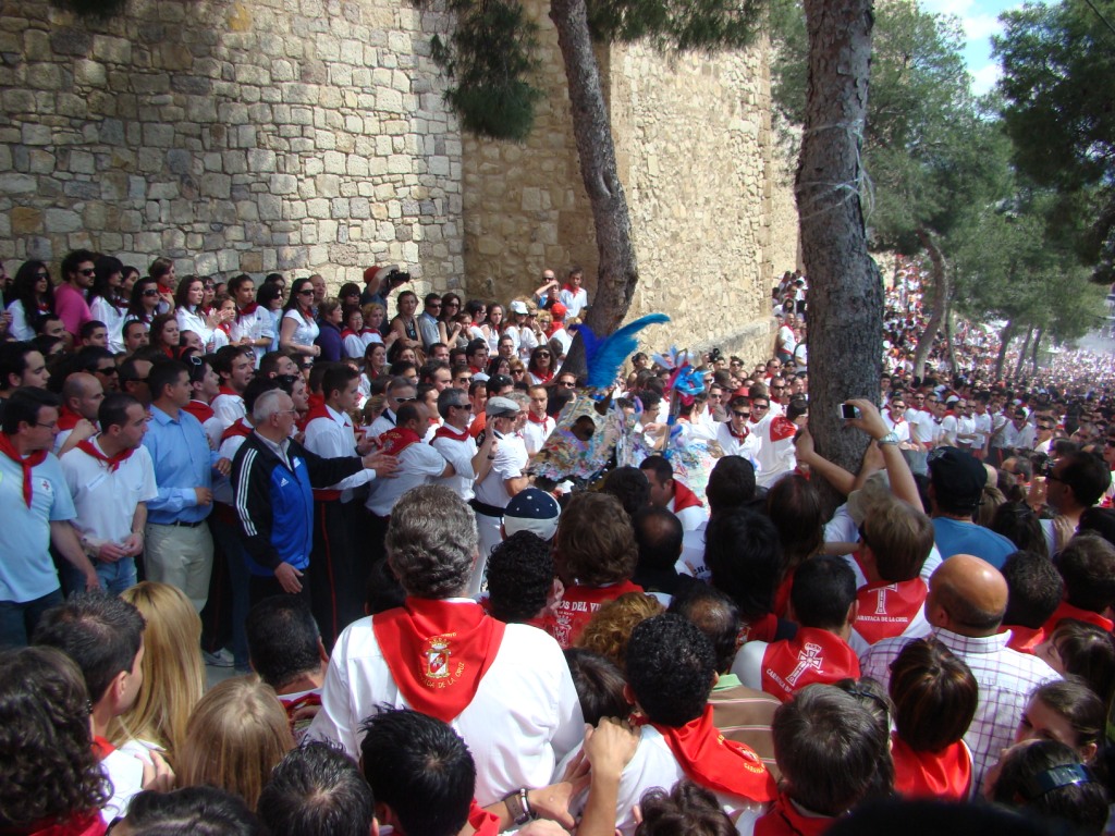
[[[797,635],[767,647],[763,654],[763,690],[783,702],[814,683],[860,678],[860,660],[846,642],[827,630],[799,626]]]

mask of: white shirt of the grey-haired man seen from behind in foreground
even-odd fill
[[[462,599],[445,603],[473,604]],[[358,758],[360,721],[381,703],[407,707],[371,619],[360,619],[337,639],[321,689],[321,711],[308,737],[334,740]],[[475,795],[482,806],[520,787],[550,784],[558,761],[584,735],[581,703],[558,642],[536,628],[507,624],[476,696],[449,725],[476,761]]]

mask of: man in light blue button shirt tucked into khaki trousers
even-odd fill
[[[184,409],[192,396],[184,363],[155,363],[147,385],[152,417],[143,443],[158,483],[158,496],[147,503],[147,580],[177,586],[201,612],[213,571],[213,537],[205,525],[213,508],[213,474],[227,476],[231,463],[217,458],[201,421]]]

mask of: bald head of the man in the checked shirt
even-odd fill
[[[961,635],[993,635],[1007,611],[1007,581],[987,561],[949,557],[929,580],[925,616],[933,626]]]

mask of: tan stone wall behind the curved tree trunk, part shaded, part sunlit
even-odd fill
[[[545,4],[526,8],[540,26],[546,91],[523,143],[464,138],[465,262],[471,293],[508,299],[533,290],[544,268],[559,275],[597,263],[592,215],[581,182],[565,75]],[[627,191],[640,282],[631,317],[663,311],[646,332],[663,348],[721,346],[769,353],[775,256],[796,251],[796,218],[775,224],[769,47],[669,58],[643,46],[598,50]],[[791,265],[792,266],[792,265]]]

